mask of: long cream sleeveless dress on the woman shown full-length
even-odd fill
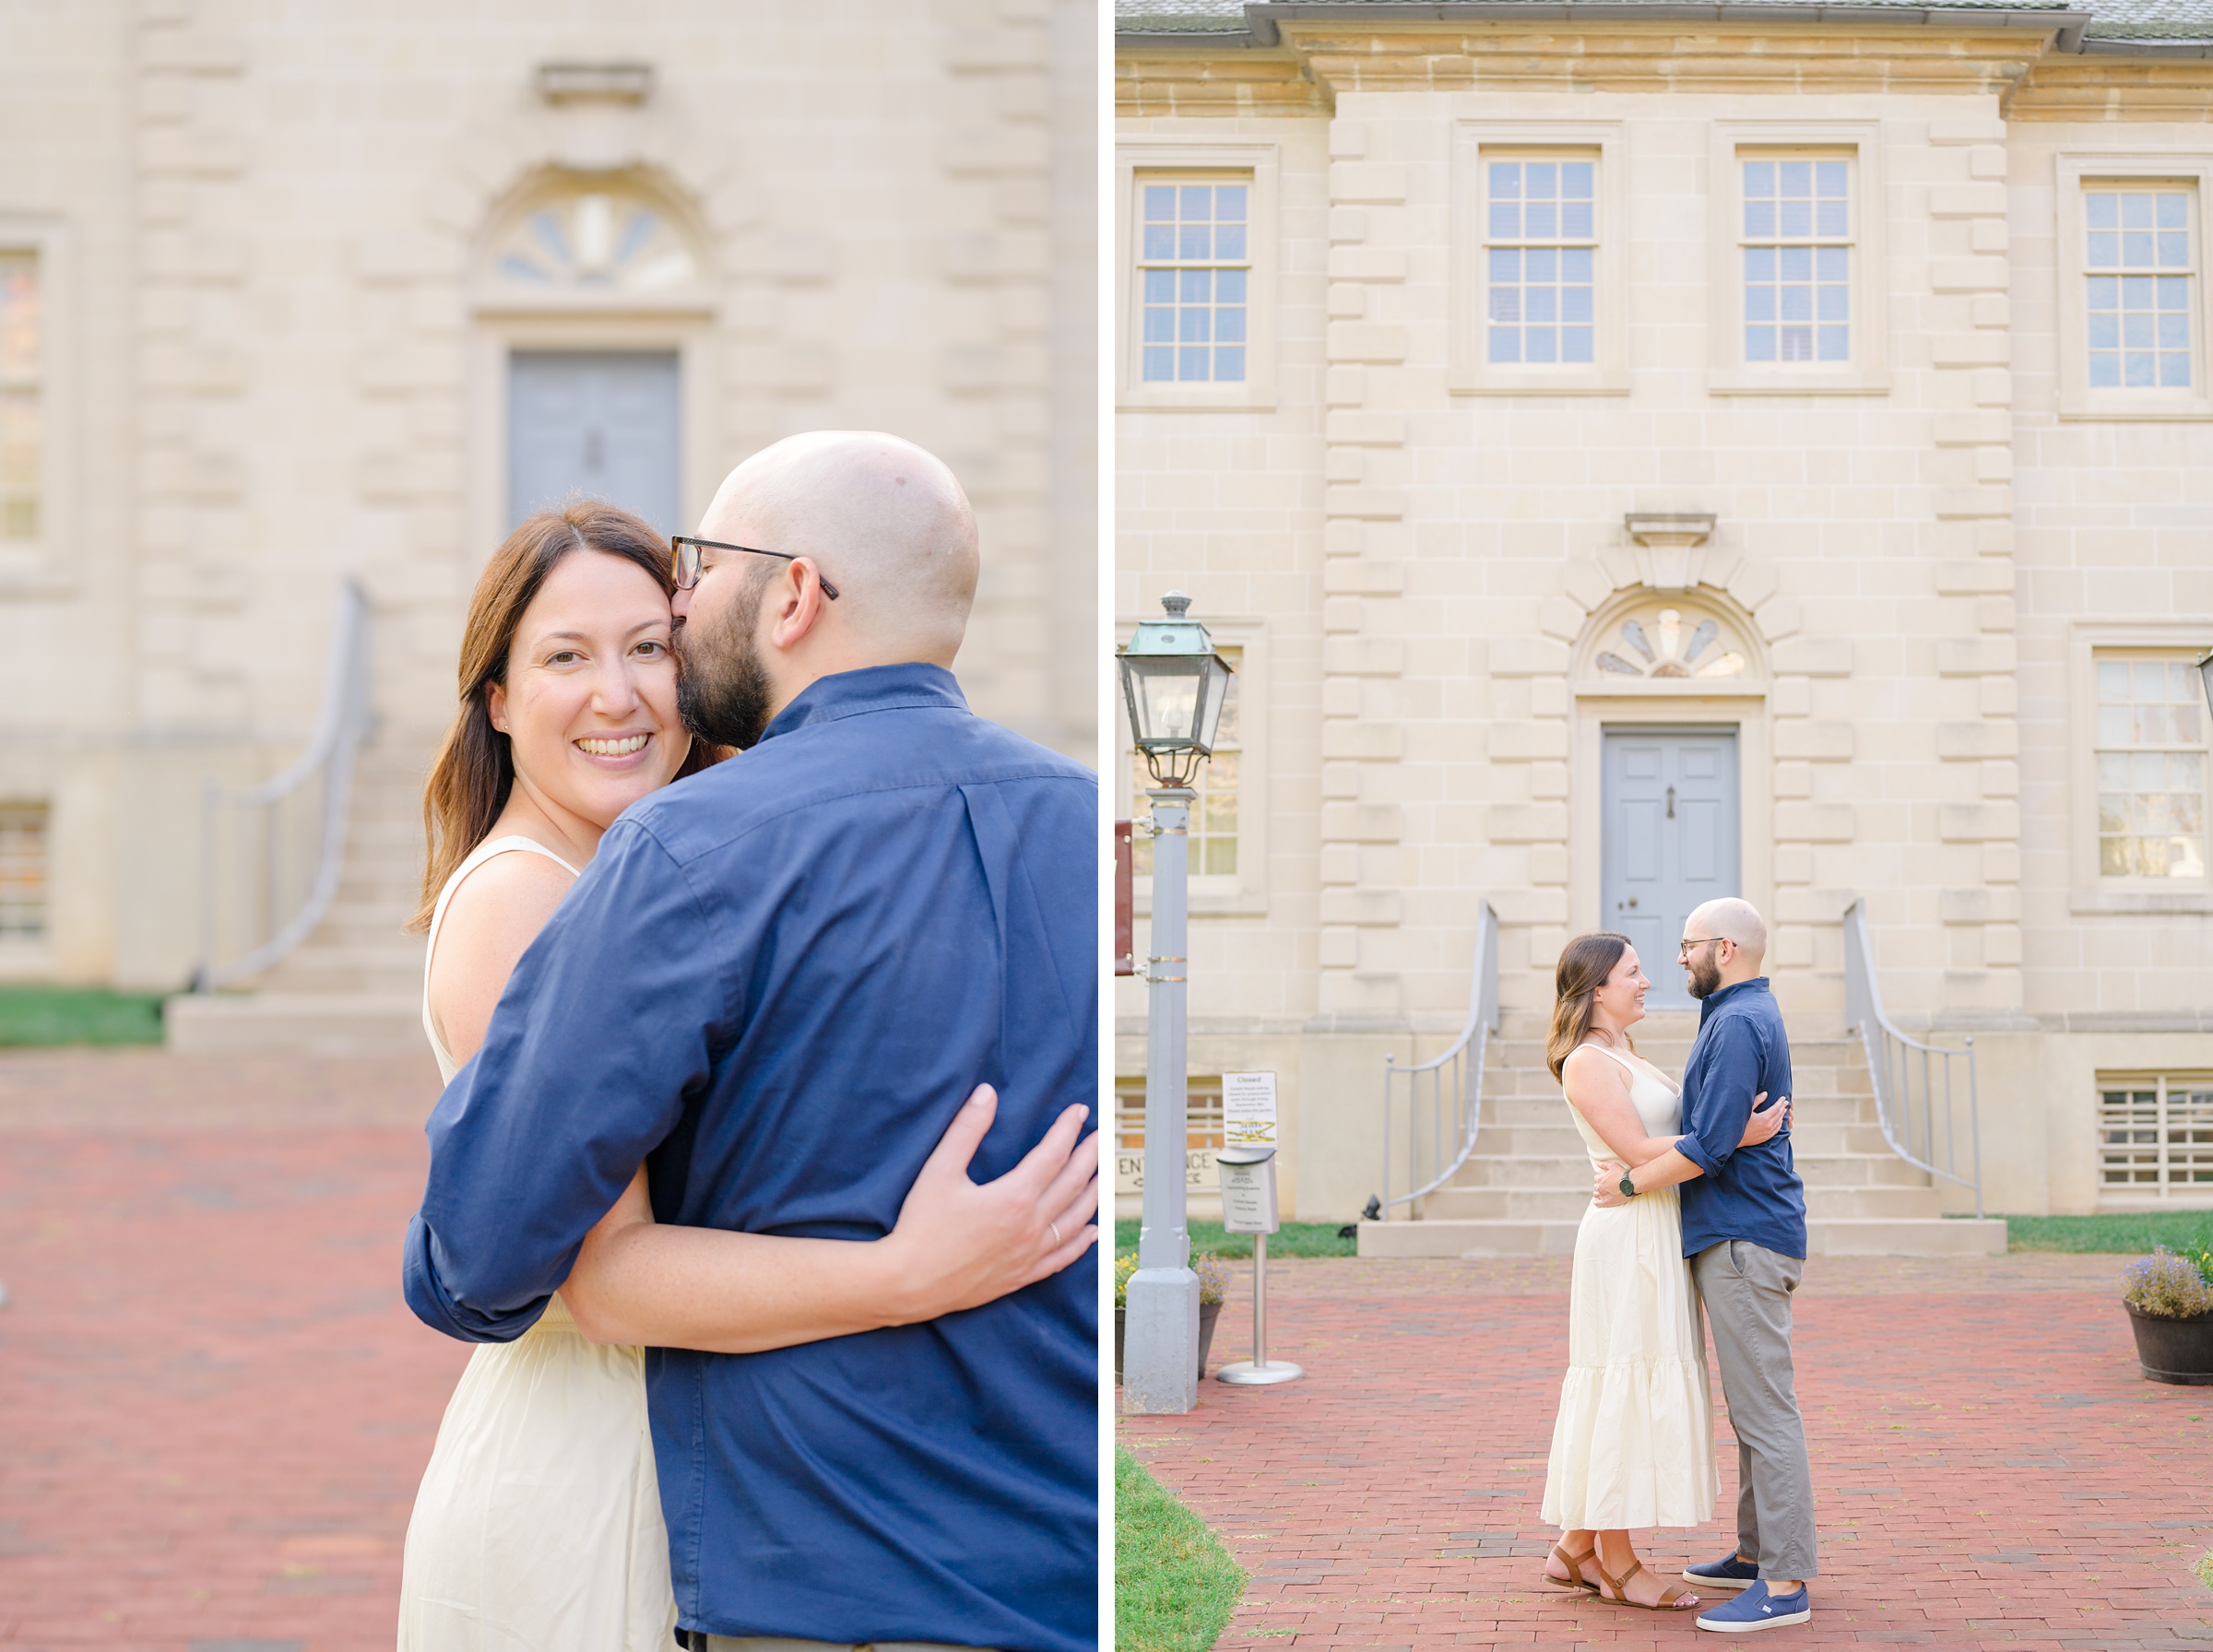
[[[1682,1130],[1682,1092],[1604,1044],[1653,1137]],[[1567,1104],[1591,1168],[1613,1150]],[[1565,1530],[1704,1526],[1713,1517],[1706,1327],[1682,1258],[1673,1188],[1582,1212],[1567,1294],[1567,1380],[1551,1426],[1545,1519]]]

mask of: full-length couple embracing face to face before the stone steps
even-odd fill
[[[1631,1042],[1651,980],[1627,935],[1567,944],[1547,1039],[1596,1174],[1545,1475],[1545,1519],[1560,1526],[1545,1577],[1649,1612],[1704,1603],[1646,1572],[1631,1544],[1635,1528],[1713,1517],[1704,1318],[1737,1435],[1737,1548],[1682,1577],[1731,1595],[1697,1614],[1724,1634],[1808,1621],[1817,1570],[1790,1369],[1806,1196],[1790,1159],[1790,1039],[1764,953],[1766,924],[1744,900],[1711,900],[1684,922],[1677,962],[1700,1024],[1682,1086]]]

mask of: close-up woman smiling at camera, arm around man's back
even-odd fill
[[[615,816],[721,756],[677,717],[673,590],[668,544],[593,502],[527,520],[478,579],[460,710],[423,796],[414,924],[449,1081]],[[447,1404],[407,1526],[401,1650],[664,1652],[675,1592],[644,1347],[752,1353],[914,1325],[1073,1263],[1098,1236],[1087,1108],[976,1185],[994,1110],[978,1086],[876,1241],[659,1225],[640,1165],[542,1318],[480,1345]]]

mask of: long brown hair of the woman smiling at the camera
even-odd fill
[[[416,933],[429,929],[445,880],[491,834],[493,820],[507,807],[507,794],[516,790],[513,747],[491,725],[491,686],[507,681],[507,655],[516,646],[522,610],[531,606],[560,560],[575,551],[635,562],[664,593],[675,595],[668,542],[628,511],[598,500],[540,511],[509,533],[507,544],[491,555],[469,599],[469,626],[460,635],[460,710],[423,787],[429,862],[423,869],[423,907],[407,924]],[[724,756],[728,756],[724,747],[695,739],[677,778],[697,774]]]

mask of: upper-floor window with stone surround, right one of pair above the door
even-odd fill
[[[1708,389],[1888,389],[1872,126],[1717,122]]]

